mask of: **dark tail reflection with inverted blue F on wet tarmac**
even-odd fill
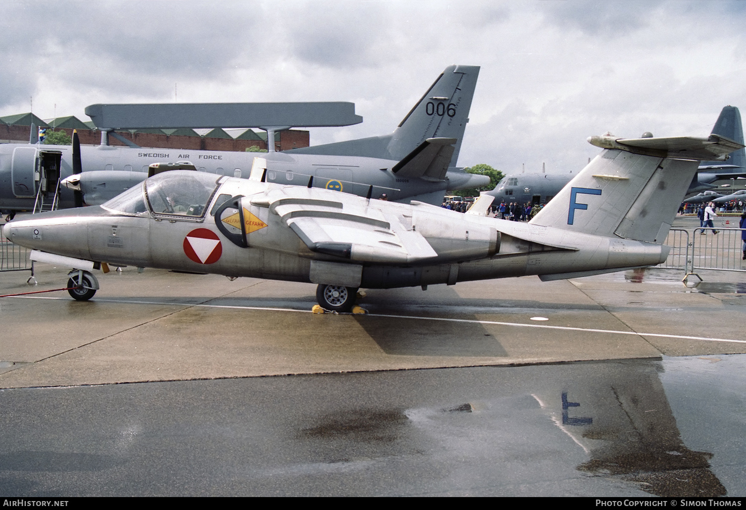
[[[659,496],[724,496],[709,469],[712,453],[683,444],[659,369],[620,363],[602,378],[589,372],[582,386],[568,384],[560,399],[539,398],[557,426],[588,453],[579,470],[622,475]]]

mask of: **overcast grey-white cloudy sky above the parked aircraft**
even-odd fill
[[[0,116],[95,103],[353,101],[391,132],[451,64],[481,66],[460,166],[580,169],[607,130],[706,135],[746,107],[746,1],[17,1]],[[56,104],[56,108],[55,105]]]

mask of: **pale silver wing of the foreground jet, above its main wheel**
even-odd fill
[[[310,251],[319,254],[384,263],[409,263],[437,256],[427,239],[411,227],[404,227],[396,215],[384,216],[374,207],[349,207],[343,201],[344,198],[336,202],[278,194],[257,205],[269,206],[270,212],[279,215]]]

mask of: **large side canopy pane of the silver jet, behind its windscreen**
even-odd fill
[[[168,171],[145,181],[145,196],[155,215],[201,218],[218,188],[214,175],[197,171]]]

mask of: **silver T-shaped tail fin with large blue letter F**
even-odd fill
[[[604,148],[530,222],[574,233],[665,241],[697,171],[744,145],[709,138],[617,139],[592,136]]]

